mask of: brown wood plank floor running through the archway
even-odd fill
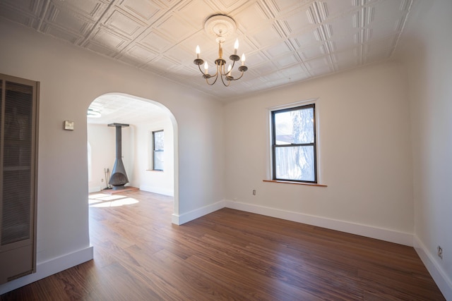
[[[95,258],[0,300],[444,300],[412,247],[172,198],[91,195]]]

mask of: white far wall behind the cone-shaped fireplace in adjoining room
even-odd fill
[[[124,168],[131,185],[133,177],[133,160],[135,146],[133,145],[134,125],[122,128],[121,153],[124,158]],[[88,156],[88,189],[96,192],[107,188],[105,169],[109,168],[111,176],[116,157],[116,128],[106,124],[88,124],[88,143],[91,147],[91,158]],[[90,164],[89,164],[90,162]]]

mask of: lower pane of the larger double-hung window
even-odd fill
[[[276,147],[275,176],[280,180],[315,181],[314,146]]]

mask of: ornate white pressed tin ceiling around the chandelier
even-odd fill
[[[268,90],[391,58],[412,0],[0,0],[0,16],[215,97]],[[237,23],[249,70],[208,86],[193,61],[218,56],[205,20]]]

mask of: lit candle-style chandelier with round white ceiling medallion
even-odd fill
[[[237,55],[237,49],[239,48],[239,40],[237,39],[234,44],[234,54],[231,54],[229,59],[232,61],[226,69],[226,61],[223,59],[223,43],[225,42],[225,37],[231,35],[235,29],[235,21],[229,16],[225,15],[214,15],[210,16],[206,23],[204,23],[204,29],[210,35],[214,35],[216,37],[215,41],[218,43],[218,59],[215,60],[215,74],[208,73],[208,63],[204,62],[203,59],[200,58],[201,50],[199,46],[196,46],[196,59],[193,61],[195,65],[198,65],[199,71],[201,72],[203,78],[206,79],[208,85],[213,85],[218,80],[218,77],[221,78],[223,85],[226,87],[230,85],[232,80],[239,80],[242,78],[243,74],[248,67],[245,66],[245,54],[242,54],[242,64],[239,66],[239,75],[238,77],[234,77],[232,75],[232,71],[234,69],[235,62],[240,60],[240,57]],[[201,65],[204,64],[204,71],[201,70]],[[212,79],[212,80],[210,80]],[[210,80],[210,82],[209,82]]]

